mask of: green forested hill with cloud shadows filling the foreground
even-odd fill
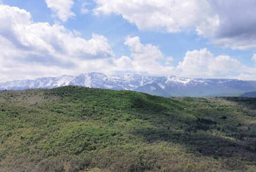
[[[1,171],[256,171],[256,99],[0,92]]]

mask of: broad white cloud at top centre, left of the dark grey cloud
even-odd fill
[[[94,9],[95,14],[121,14],[139,29],[157,29],[171,33],[196,26],[206,19],[208,15],[205,14],[209,9],[209,4],[201,0],[95,1],[98,4]]]

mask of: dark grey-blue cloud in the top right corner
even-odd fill
[[[209,3],[219,17],[220,25],[212,33],[208,28],[199,26],[203,36],[223,47],[241,50],[256,48],[255,1],[211,0]]]

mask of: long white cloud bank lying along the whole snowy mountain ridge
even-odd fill
[[[158,46],[142,44],[138,36],[124,40],[130,56],[115,57],[105,36],[92,34],[85,40],[58,23],[34,22],[29,12],[18,7],[0,4],[0,23],[2,82],[92,71],[256,79],[255,67],[230,56],[214,56],[207,49],[187,51],[174,66],[173,57],[165,57]],[[252,61],[256,62],[255,54]]]

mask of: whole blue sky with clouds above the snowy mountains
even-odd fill
[[[89,72],[256,80],[255,0],[0,0],[0,82]]]

